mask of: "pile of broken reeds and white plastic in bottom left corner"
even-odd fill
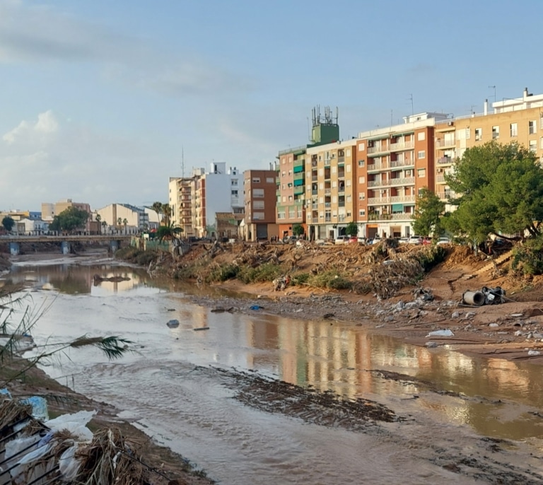
[[[18,401],[7,390],[0,398],[0,484],[146,483],[139,457],[119,429],[93,434],[87,428],[95,411],[41,421],[45,399]]]

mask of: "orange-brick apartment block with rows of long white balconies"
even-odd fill
[[[356,149],[359,234],[409,237],[416,197],[433,189],[434,127],[447,115],[424,112],[403,124],[361,132]],[[446,122],[445,122],[446,123]]]

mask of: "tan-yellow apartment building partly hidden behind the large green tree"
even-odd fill
[[[532,95],[525,88],[521,98],[504,98],[491,108],[489,112],[485,100],[482,113],[436,122],[436,194],[443,201],[455,197],[445,175],[467,148],[491,140],[502,144],[517,141],[543,160],[543,95]]]

